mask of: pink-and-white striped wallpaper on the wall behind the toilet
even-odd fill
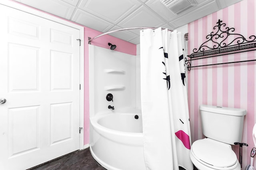
[[[234,33],[244,35],[246,39],[250,35],[256,35],[255,9],[256,2],[254,0],[243,0],[189,23],[188,54],[191,54],[194,48],[200,47],[206,41],[206,35],[214,31],[213,27],[217,25],[219,19],[226,23],[226,26],[234,27]],[[230,39],[232,38],[228,38],[228,41]],[[212,44],[208,43],[208,45]],[[192,65],[250,60],[256,59],[255,56],[256,51],[250,51],[196,60]],[[191,71],[188,72],[188,100],[192,142],[204,138],[198,110],[200,104],[244,108],[247,110],[242,142],[247,143],[249,146],[243,147],[243,169],[247,164],[250,164],[250,151],[254,147],[252,128],[256,123],[255,64],[256,62],[252,61],[196,67],[191,68]],[[234,146],[233,149],[238,156],[239,147]]]

